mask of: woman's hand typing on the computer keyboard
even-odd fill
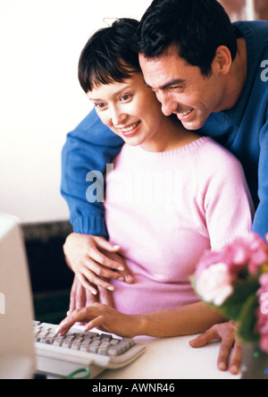
[[[85,331],[98,328],[100,331],[133,338],[138,334],[138,316],[120,313],[114,308],[94,303],[88,308],[79,308],[69,314],[59,326],[58,334],[66,334],[75,323],[88,323]]]

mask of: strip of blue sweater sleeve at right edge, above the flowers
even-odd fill
[[[264,238],[268,232],[268,114],[260,133],[258,196],[260,203],[255,213],[253,231]]]

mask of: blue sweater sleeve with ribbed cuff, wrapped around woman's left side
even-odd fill
[[[113,163],[122,145],[122,139],[100,121],[95,110],[67,135],[62,152],[61,193],[70,209],[74,232],[108,238],[103,203],[87,200],[87,175],[92,171],[105,173],[106,164]]]

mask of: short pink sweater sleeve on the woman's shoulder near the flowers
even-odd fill
[[[211,247],[217,250],[251,232],[254,206],[242,165],[227,150],[208,151],[203,164],[202,206]]]

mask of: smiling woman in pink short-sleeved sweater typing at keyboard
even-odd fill
[[[204,332],[224,319],[198,300],[189,276],[205,249],[221,249],[251,231],[241,165],[212,139],[163,115],[139,68],[137,27],[138,21],[115,21],[89,39],[80,57],[82,88],[127,144],[106,175],[105,220],[135,282],[115,275],[108,287],[113,308],[78,309],[61,334],[77,321],[127,337]],[[85,266],[69,263],[88,278]]]

